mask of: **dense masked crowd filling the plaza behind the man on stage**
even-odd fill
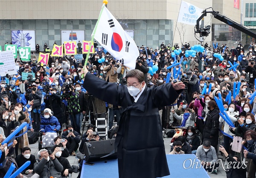
[[[252,42],[247,53],[241,43],[231,48],[218,45],[213,48],[213,51],[207,43],[202,46],[205,51],[198,52],[195,57],[185,56],[185,52],[191,50],[189,43],[181,47],[161,43],[155,49],[143,45],[138,46],[140,56],[136,60],[136,69],[143,72],[148,88],[152,85],[160,86],[179,80],[186,86],[172,105],[159,108],[163,130],[173,126],[185,128],[178,131],[181,134],[175,137],[170,154],[193,153],[200,159],[201,164],[207,167],[217,161],[218,150],[220,150],[221,154],[231,161],[240,162],[246,158],[248,177],[254,177],[256,173],[256,160],[254,160],[256,102],[250,96],[255,92],[256,44]],[[97,48],[97,45],[94,47],[96,51],[90,54],[87,64],[84,64],[86,54],[83,54],[83,59],[76,59],[74,55],[63,57],[50,55],[48,64],[41,64],[32,52],[30,61],[23,62],[15,59],[15,64],[19,66],[15,75],[7,74],[0,77],[0,139],[4,140],[23,122],[27,123],[9,148],[6,144],[1,146],[0,162],[3,167],[0,169],[0,174],[5,175],[12,162],[20,167],[29,160],[33,164],[21,172],[20,177],[49,177],[49,168],[54,169],[51,171],[54,177],[68,176],[73,169],[67,157],[76,155],[77,150],[82,153],[84,142],[102,139],[98,134],[93,134],[96,131],[95,118],[108,117],[109,130],[112,131],[110,138],[116,137],[122,107],[91,96],[83,87],[83,68],[86,66],[94,76],[106,82],[116,83],[116,85],[127,85],[126,74],[131,69],[126,67],[122,61],[116,60],[104,48]],[[44,52],[50,52],[47,51],[48,48],[47,44],[44,44]],[[181,49],[180,54],[172,57],[172,52],[179,49]],[[37,45],[36,53],[38,52],[39,45]],[[224,59],[221,61],[215,57],[215,53],[221,54]],[[102,58],[105,58],[105,61],[98,62]],[[180,65],[168,68],[175,60],[180,62]],[[239,65],[236,69],[229,70],[231,67],[229,62],[232,65]],[[154,65],[157,65],[158,70],[151,75],[148,73],[149,67]],[[49,75],[46,71],[47,66]],[[177,71],[180,72],[177,73]],[[35,78],[28,77],[23,80],[22,73],[33,73]],[[171,73],[170,81],[166,80],[168,73]],[[233,96],[234,82],[241,82],[239,93],[236,96]],[[211,85],[210,90],[209,85]],[[207,94],[202,93],[204,86],[207,86]],[[136,88],[141,86],[129,87],[134,89],[129,90],[130,95],[137,96]],[[226,97],[230,91],[231,101],[227,101]],[[221,98],[219,98],[219,93]],[[215,96],[222,100],[224,112],[235,127],[231,127],[220,116],[221,111],[215,102]],[[89,102],[91,98],[95,101],[95,106]],[[91,113],[87,113],[89,110]],[[82,135],[82,120],[85,121],[87,114],[91,115],[91,124]],[[117,125],[113,125],[114,120]],[[66,123],[66,128],[62,128],[64,123]],[[201,133],[203,141],[199,139],[195,128]],[[27,130],[42,133],[43,141],[46,136],[52,138],[52,143],[48,145],[52,146],[51,151],[40,150],[38,160],[30,153]],[[62,130],[64,132],[61,134]],[[243,139],[241,144],[244,148],[240,153],[233,151],[230,146],[233,136]],[[223,147],[219,146],[219,138],[224,140]],[[45,146],[42,144],[42,147]],[[11,155],[15,155],[15,159]],[[216,167],[218,164],[215,164]],[[206,168],[206,170],[217,173],[216,169]],[[240,172],[241,177],[245,175],[244,170],[230,170],[228,173],[233,175],[236,171],[242,172]]]

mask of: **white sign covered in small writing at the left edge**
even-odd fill
[[[5,76],[7,73],[9,75],[17,73],[12,50],[0,51],[0,75]]]

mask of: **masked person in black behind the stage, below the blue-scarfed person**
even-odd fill
[[[192,154],[195,154],[196,150],[200,146],[200,139],[197,136],[194,127],[189,126],[186,128],[185,141],[189,143],[189,146],[191,147],[192,150]]]

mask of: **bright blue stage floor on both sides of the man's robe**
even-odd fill
[[[170,175],[163,178],[209,178],[204,168],[196,168],[200,162],[194,154],[166,155],[166,158]],[[117,159],[93,163],[93,166],[83,164],[81,178],[118,178]]]

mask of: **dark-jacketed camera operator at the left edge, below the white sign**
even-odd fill
[[[1,94],[0,97],[3,95],[7,95],[9,97],[10,105],[15,105],[17,103],[18,95],[15,93],[15,91],[12,90],[12,86],[6,85],[5,81],[1,81]]]

